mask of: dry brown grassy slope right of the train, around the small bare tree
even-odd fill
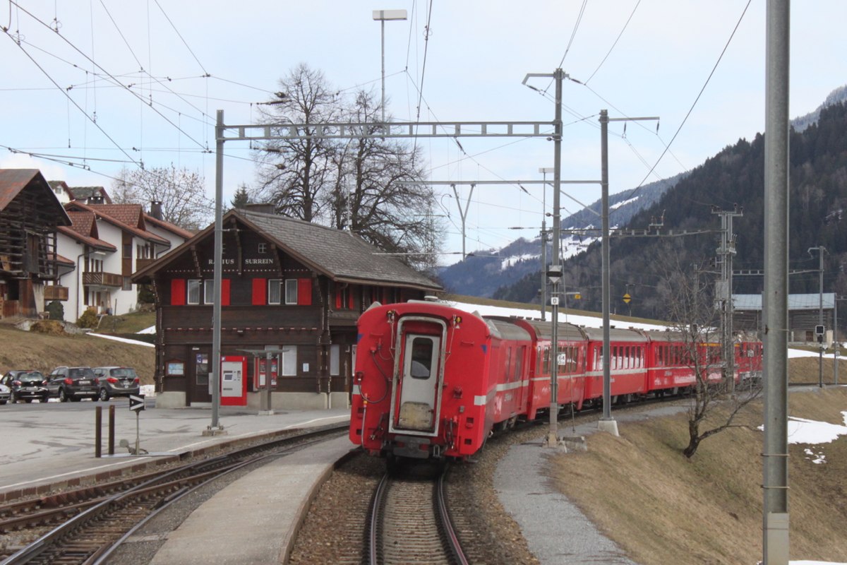
[[[817,360],[815,363],[817,371]],[[817,374],[817,373],[816,373]],[[847,375],[845,375],[847,376]],[[847,389],[794,393],[792,416],[844,424]],[[640,565],[755,563],[761,558],[761,403],[700,444],[691,460],[685,413],[596,434],[589,451],[556,457],[556,487]],[[805,448],[827,463],[811,463]],[[789,446],[790,547],[795,559],[847,555],[847,437]]]

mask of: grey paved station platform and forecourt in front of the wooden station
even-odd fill
[[[108,456],[108,406],[115,406],[115,454]],[[95,457],[95,412],[102,406],[102,457]],[[211,408],[163,409],[148,402],[137,417],[139,447],[134,456],[119,440],[136,445],[136,413],[129,402],[79,402],[61,407],[15,404],[0,410],[3,456],[0,457],[0,502],[38,496],[51,490],[119,478],[128,472],[154,469],[188,455],[222,446],[279,435],[296,429],[348,421],[347,408],[274,411],[258,415],[246,407],[220,407],[219,427],[225,435],[203,435],[212,424]],[[344,438],[346,440],[346,438]],[[349,440],[346,445],[352,447]]]

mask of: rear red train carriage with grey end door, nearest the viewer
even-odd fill
[[[468,457],[523,413],[529,335],[436,302],[359,319],[351,440],[390,457]]]

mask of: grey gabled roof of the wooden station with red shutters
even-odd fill
[[[299,219],[275,214],[233,209],[224,222],[237,219],[259,235],[274,243],[283,252],[296,258],[314,271],[332,280],[370,285],[397,285],[424,291],[441,291],[440,285],[396,258],[379,255],[379,249],[349,231],[333,230]],[[197,245],[211,238],[214,225],[186,241],[180,248]],[[143,279],[163,269],[180,257],[179,249],[141,269],[133,280]]]

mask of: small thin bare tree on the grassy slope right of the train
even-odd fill
[[[730,379],[724,376],[722,348],[717,341],[720,330],[719,316],[711,291],[713,281],[707,277],[703,265],[690,265],[682,269],[674,263],[673,246],[665,246],[663,264],[665,274],[659,285],[659,294],[666,306],[666,319],[672,325],[675,341],[683,347],[677,355],[680,364],[688,366],[695,375],[689,406],[689,444],[685,457],[694,457],[700,443],[724,429],[737,427],[735,417],[761,394],[761,383],[749,381],[746,390],[734,391]],[[734,347],[729,348],[734,351]],[[731,391],[734,391],[731,393]]]

